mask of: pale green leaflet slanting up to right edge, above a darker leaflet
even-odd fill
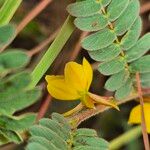
[[[150,50],[150,33],[145,34],[132,48],[126,52],[128,62],[137,60]]]

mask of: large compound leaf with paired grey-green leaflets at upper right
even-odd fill
[[[102,62],[98,70],[112,75],[106,89],[115,91],[117,99],[126,98],[136,88],[135,73],[142,73],[141,80],[145,73],[150,73],[150,57],[143,56],[150,49],[150,34],[139,39],[142,28],[139,1],[84,0],[70,4],[67,10],[76,17],[77,28],[95,31],[81,44],[92,59]],[[142,81],[142,86],[150,84]]]

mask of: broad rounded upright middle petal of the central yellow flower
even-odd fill
[[[69,62],[65,66],[65,81],[70,83],[76,90],[84,91],[86,79],[83,66],[76,62]]]

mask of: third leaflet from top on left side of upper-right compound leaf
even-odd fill
[[[115,39],[116,36],[112,30],[103,29],[83,39],[82,47],[89,51],[99,50],[112,44]]]

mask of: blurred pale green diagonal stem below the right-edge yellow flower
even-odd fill
[[[141,126],[136,126],[116,139],[112,140],[109,145],[110,150],[116,150],[122,147],[123,145],[131,142],[132,140],[138,138],[141,135]]]

